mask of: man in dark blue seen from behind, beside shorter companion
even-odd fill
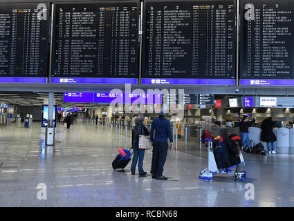
[[[174,146],[170,122],[165,118],[165,115],[162,109],[159,117],[156,117],[152,122],[150,130],[150,140],[153,146],[151,175],[156,180],[167,180],[167,177],[163,176],[163,166],[165,165],[168,150],[167,137],[169,138],[169,142],[171,142],[171,150]]]

